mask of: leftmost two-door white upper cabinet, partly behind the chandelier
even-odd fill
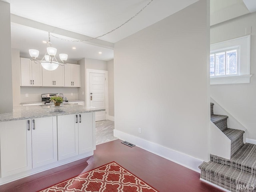
[[[20,58],[21,86],[42,86],[42,66],[28,58]]]

